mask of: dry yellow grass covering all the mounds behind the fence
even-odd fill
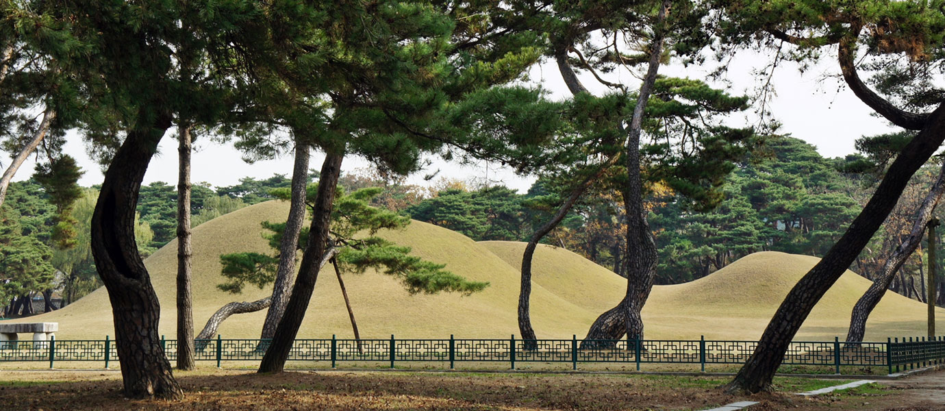
[[[288,205],[266,202],[238,210],[194,230],[194,315],[199,329],[223,304],[256,300],[266,290],[247,288],[233,296],[215,288],[221,253],[243,250],[266,252],[260,222],[284,220]],[[348,275],[345,284],[352,299],[361,334],[365,337],[457,338],[507,337],[518,334],[516,306],[523,243],[476,243],[459,233],[413,222],[404,231],[383,233],[387,239],[410,246],[417,255],[446,264],[456,274],[488,281],[486,291],[464,297],[456,294],[411,296],[396,280],[369,271]],[[175,334],[174,304],[176,248],[172,242],[146,260],[162,302],[161,332]],[[816,263],[814,257],[783,253],[748,256],[693,283],[657,286],[644,308],[647,338],[756,339],[768,318],[793,283]],[[598,314],[619,301],[626,280],[610,270],[562,249],[541,246],[536,253],[532,290],[533,324],[539,337],[581,336]],[[853,302],[868,281],[848,272],[816,307],[801,329],[799,339],[833,339],[846,332]],[[60,311],[30,318],[60,322],[60,339],[103,338],[113,334],[111,305],[99,289]],[[924,305],[887,295],[868,324],[867,338],[924,333]],[[256,338],[265,312],[231,317],[220,327],[226,338]],[[945,311],[939,314],[945,317]],[[945,321],[939,327],[945,329]],[[335,274],[329,269],[318,278],[300,337],[351,336],[351,325]]]

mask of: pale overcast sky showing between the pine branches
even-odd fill
[[[825,157],[844,156],[854,152],[853,142],[863,136],[879,134],[891,130],[885,120],[870,115],[870,110],[837,77],[839,69],[831,57],[835,56],[835,47],[824,61],[800,74],[798,67],[793,63],[784,63],[774,73],[772,84],[776,91],[770,103],[773,116],[782,123],[782,132],[790,133],[794,137],[817,147]],[[770,56],[746,54],[730,61],[727,82],[732,94],[750,94],[757,85],[765,80],[759,76],[757,69],[764,68],[771,60]],[[665,66],[661,68],[662,75],[677,77],[705,78],[706,73],[700,67],[684,68],[681,65]],[[553,98],[570,96],[564,86],[557,65],[544,63],[536,66],[530,74],[535,82],[541,82],[542,87],[548,90]],[[639,84],[639,80],[626,72],[617,72],[615,79],[627,84]],[[593,77],[582,77],[584,84],[593,93],[603,93],[605,89]],[[724,83],[713,83],[714,86],[723,86]],[[754,112],[748,112],[741,121],[754,123],[757,117]],[[172,185],[177,180],[177,141],[170,134],[171,129],[164,137],[159,148],[159,154],[148,167],[145,183],[162,180]],[[100,183],[102,174],[94,162],[85,153],[81,139],[69,139],[66,151],[77,158],[85,170],[84,177],[79,181],[83,186]],[[273,174],[290,175],[292,171],[291,156],[284,156],[276,160],[257,163],[244,163],[238,150],[232,146],[216,145],[208,140],[198,141],[193,156],[192,180],[207,181],[214,186],[232,185],[240,178],[251,176],[266,178]],[[313,155],[312,168],[320,167],[323,155]],[[508,169],[502,169],[495,164],[479,163],[475,165],[459,165],[445,163],[432,159],[433,163],[421,173],[411,176],[408,182],[428,185],[432,181],[423,180],[425,175],[438,171],[437,178],[459,180],[487,179],[490,184],[505,184],[511,188],[524,192],[534,180],[527,177],[515,176]],[[9,164],[9,158],[0,157],[4,167]],[[26,180],[32,174],[34,164],[25,163],[14,180]],[[363,159],[345,159],[343,170],[352,172],[357,168],[367,168],[369,163]]]

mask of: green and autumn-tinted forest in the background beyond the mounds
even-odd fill
[[[869,151],[865,143],[860,146],[861,151]],[[650,228],[660,252],[656,282],[690,282],[756,251],[823,255],[871,195],[877,180],[872,165],[882,165],[882,159],[869,157],[856,154],[826,159],[799,139],[777,137],[770,139],[766,152],[738,163],[726,180],[725,199],[713,210],[692,210],[672,190],[650,187]],[[936,170],[937,165],[930,162],[917,173],[852,270],[874,278],[885,258],[908,234],[915,210],[936,180]],[[318,180],[318,173],[310,177]],[[274,175],[259,180],[248,177],[224,187],[195,184],[193,225],[273,199],[272,190],[288,188],[290,183],[285,176]],[[382,187],[384,191],[372,199],[372,205],[461,232],[476,241],[527,241],[552,213],[547,204],[557,200],[542,179],[525,194],[481,180],[438,180],[421,187],[405,184],[403,179],[386,179],[370,170],[346,174],[339,185],[347,191]],[[78,222],[77,246],[59,249],[53,247],[56,208],[43,185],[36,180],[10,185],[8,200],[0,209],[0,244],[9,245],[0,251],[0,270],[17,261],[46,264],[34,264],[21,270],[23,274],[16,281],[0,284],[5,317],[37,314],[39,310],[27,303],[30,300],[43,297],[43,311],[48,311],[59,308],[52,302],[54,296],[65,305],[101,286],[89,244],[97,195],[96,187],[83,190],[73,211]],[[612,191],[594,191],[578,202],[542,243],[573,250],[626,276],[621,264],[627,252],[626,227],[619,198]],[[176,188],[163,181],[142,187],[136,240],[143,257],[175,238],[176,201]],[[925,248],[920,245],[909,257],[891,290],[925,300]],[[942,305],[945,290],[942,282],[938,284],[936,303]]]

